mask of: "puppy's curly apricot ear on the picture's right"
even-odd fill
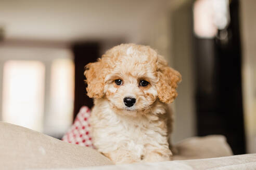
[[[173,68],[162,66],[158,70],[158,98],[163,103],[172,103],[177,97],[176,88],[181,81],[181,74]]]

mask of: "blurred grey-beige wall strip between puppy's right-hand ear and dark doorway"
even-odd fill
[[[191,6],[191,1],[183,1],[171,12],[171,55],[182,75],[175,100],[174,142],[196,135]]]

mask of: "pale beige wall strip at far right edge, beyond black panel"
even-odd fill
[[[247,152],[256,152],[256,1],[240,1],[242,88]]]

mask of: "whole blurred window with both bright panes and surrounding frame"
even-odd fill
[[[0,121],[61,137],[72,124],[69,49],[0,47]]]

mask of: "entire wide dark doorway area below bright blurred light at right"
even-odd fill
[[[229,8],[231,23],[227,29],[213,39],[195,38],[197,130],[199,136],[225,135],[233,152],[243,154],[238,1],[231,1]]]

